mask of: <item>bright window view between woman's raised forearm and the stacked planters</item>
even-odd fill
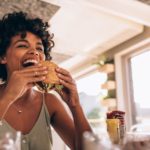
[[[93,129],[100,127],[100,122],[104,120],[107,111],[100,103],[102,97],[107,95],[107,90],[101,89],[101,84],[106,79],[106,74],[96,72],[76,82],[81,105]]]

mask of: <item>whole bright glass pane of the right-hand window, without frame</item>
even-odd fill
[[[135,123],[150,122],[150,51],[131,57]]]

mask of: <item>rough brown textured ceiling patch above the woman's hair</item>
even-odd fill
[[[49,21],[58,9],[59,7],[56,5],[39,0],[1,0],[0,18],[6,13],[22,10]]]

